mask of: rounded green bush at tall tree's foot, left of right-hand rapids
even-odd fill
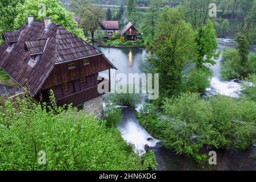
[[[192,68],[183,76],[181,90],[183,90],[183,92],[204,94],[205,90],[210,86],[211,75],[212,72],[209,70],[209,68]]]

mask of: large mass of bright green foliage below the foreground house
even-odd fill
[[[7,101],[0,112],[1,170],[139,170],[141,159],[128,150],[115,128],[72,111]],[[47,111],[48,110],[48,111]],[[46,165],[39,165],[39,151]]]

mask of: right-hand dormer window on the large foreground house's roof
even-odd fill
[[[28,51],[30,53],[30,61],[37,62],[40,56],[46,50],[48,39],[39,39],[26,41],[24,43],[24,52]]]

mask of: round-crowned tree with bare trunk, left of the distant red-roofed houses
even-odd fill
[[[99,23],[105,18],[104,12],[97,5],[86,5],[80,9],[81,27],[90,31],[94,39],[94,31],[97,30]]]

